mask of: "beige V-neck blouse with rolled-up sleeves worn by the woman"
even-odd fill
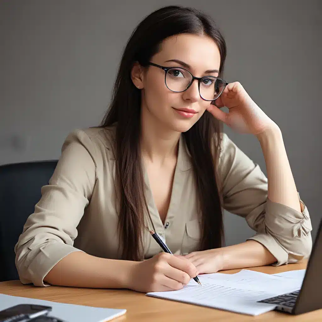
[[[42,197],[35,205],[15,246],[16,267],[22,283],[48,286],[44,277],[73,251],[120,259],[118,205],[115,197],[115,126],[73,131],[62,146],[62,155]],[[308,257],[312,247],[311,221],[302,213],[267,199],[267,178],[228,137],[223,135],[219,179],[223,208],[242,216],[281,265]],[[161,248],[149,229],[165,240],[173,253],[198,250],[200,225],[196,184],[184,137],[179,140],[171,201],[162,224],[145,172],[149,213],[144,232],[144,254]],[[165,228],[167,226],[167,228]]]

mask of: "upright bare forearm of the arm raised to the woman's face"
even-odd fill
[[[276,126],[257,137],[266,163],[268,198],[300,212],[301,205],[281,131]]]

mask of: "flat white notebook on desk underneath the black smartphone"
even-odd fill
[[[34,298],[22,298],[0,294],[0,311],[17,304],[37,304],[52,307],[48,316],[57,317],[67,322],[104,322],[125,314],[125,309],[95,308],[84,305],[57,303]]]

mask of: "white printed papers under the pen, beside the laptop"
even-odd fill
[[[198,276],[202,286],[192,279],[183,289],[146,295],[259,315],[273,310],[275,305],[257,301],[300,289],[304,274],[305,270],[274,275],[252,270],[241,270],[236,274],[204,274]]]

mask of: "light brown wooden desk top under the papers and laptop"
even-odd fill
[[[298,264],[289,264],[279,267],[264,266],[251,268],[260,272],[275,274],[287,270],[301,270],[306,268],[307,261]],[[236,273],[239,270],[223,271],[223,273]],[[145,296],[130,290],[115,289],[79,289],[59,286],[35,287],[23,285],[20,281],[7,281],[0,283],[0,293],[39,298],[54,302],[81,304],[94,307],[126,308],[127,313],[113,321],[322,321],[322,309],[293,316],[276,311],[261,314],[256,317],[236,314],[232,312],[204,308],[196,305],[179,303],[170,300]]]

